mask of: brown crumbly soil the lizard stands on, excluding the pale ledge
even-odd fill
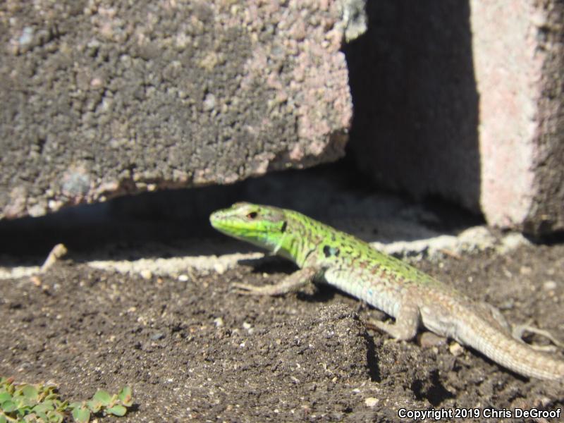
[[[416,266],[564,340],[564,245]],[[266,257],[224,274],[144,279],[68,260],[35,281],[0,281],[0,375],[54,381],[71,400],[130,384],[135,407],[124,422],[388,422],[400,408],[564,407],[562,386],[524,379],[452,341],[427,333],[395,342],[367,330],[365,321],[384,315],[332,288],[283,298],[230,290],[293,270]]]

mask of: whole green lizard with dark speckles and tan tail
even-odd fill
[[[470,300],[353,235],[293,210],[244,202],[212,213],[209,220],[218,231],[300,267],[276,285],[234,284],[247,293],[281,295],[308,283],[328,283],[394,317],[393,324],[374,322],[393,338],[410,340],[424,326],[524,376],[564,381],[564,361],[515,339],[497,309]]]

